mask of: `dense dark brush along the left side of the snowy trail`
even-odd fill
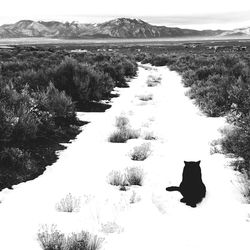
[[[0,190],[40,175],[84,124],[76,110],[111,97],[136,74],[117,52],[39,46],[0,50]]]

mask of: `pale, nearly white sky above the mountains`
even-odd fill
[[[23,19],[96,23],[117,17],[196,29],[250,26],[249,0],[1,0],[0,24]]]

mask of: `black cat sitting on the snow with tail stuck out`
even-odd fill
[[[200,161],[184,161],[182,182],[179,187],[167,187],[167,191],[179,191],[183,198],[181,202],[188,206],[196,207],[196,204],[206,195],[206,187],[201,179]]]

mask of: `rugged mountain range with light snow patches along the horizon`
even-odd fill
[[[117,18],[97,24],[21,20],[0,26],[0,38],[171,38],[250,35],[250,28],[235,30],[194,30],[156,26],[141,19]]]

